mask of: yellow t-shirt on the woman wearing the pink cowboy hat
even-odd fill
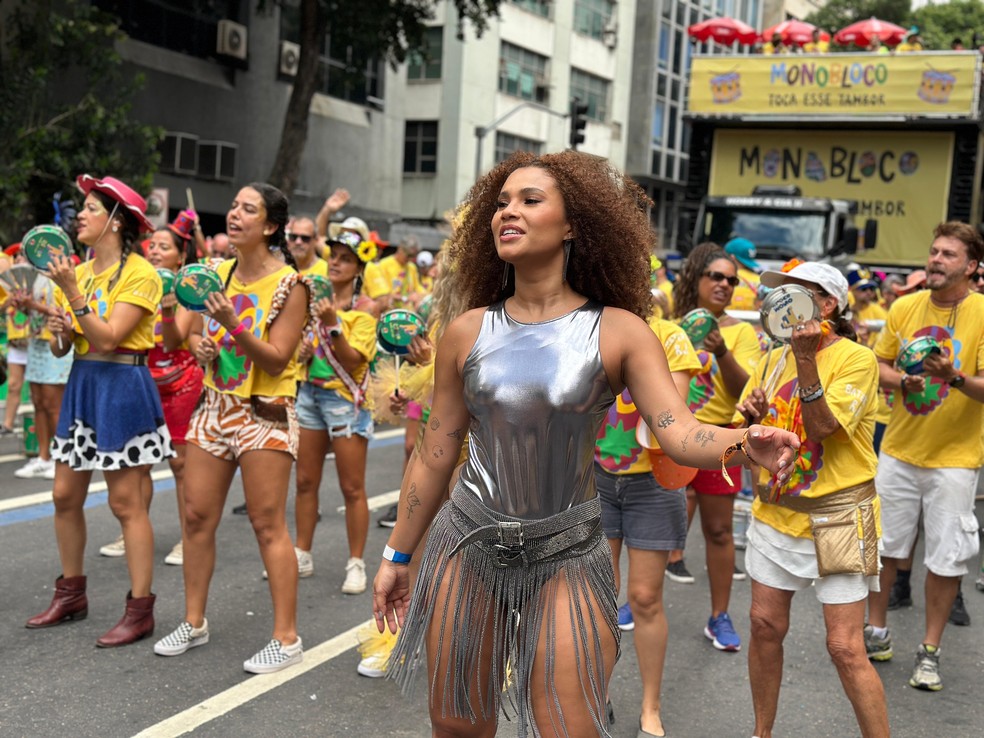
[[[110,288],[110,282],[118,273],[120,278]],[[118,267],[112,266],[99,274],[93,274],[92,262],[85,261],[75,267],[75,279],[82,294],[88,296],[89,307],[103,320],[109,320],[113,314],[113,306],[118,302],[144,309],[144,315],[141,316],[137,327],[120,342],[119,348],[126,351],[149,351],[154,347],[154,324],[157,322],[157,306],[161,302],[164,286],[161,284],[157,270],[150,262],[138,254],[130,254],[122,273],[119,272]],[[65,298],[65,293],[57,287],[55,300],[70,315],[72,314],[72,306]],[[72,325],[76,334],[75,353],[89,353],[89,342],[82,335],[82,326],[74,315],[72,315]]]

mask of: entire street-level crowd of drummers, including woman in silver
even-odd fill
[[[273,603],[271,638],[243,666],[301,661],[298,578],[314,573],[326,454],[345,502],[336,572],[358,595],[373,568],[368,446],[376,423],[397,422],[405,475],[372,585],[383,635],[359,671],[405,689],[426,673],[437,734],[493,736],[511,710],[521,736],[610,735],[626,630],[639,736],[668,734],[664,578],[695,581],[696,512],[703,632],[726,653],[747,638],[755,736],[772,735],[790,605],[807,588],[862,735],[889,734],[871,661],[894,655],[887,612],[920,530],[926,629],[909,683],[942,688],[984,463],[984,240],[971,226],[941,224],[926,269],[905,279],[765,269],[740,236],[696,246],[670,274],[642,190],[572,151],[518,153],[479,179],[436,258],[409,237],[383,256],[378,234],[339,215],[344,190],[306,217],[246,185],[226,233],[206,239],[192,211],[154,229],[126,184],[77,184],[78,263],[53,257],[30,294],[5,296],[8,362],[23,357],[42,442],[17,474],[53,479],[60,559],[51,604],[27,627],[88,614],[83,502],[100,470],[122,533],[102,550],[126,557],[129,588],[97,645],[154,632],[150,469],[166,460],[181,528],[166,562],[183,566],[185,614],[155,653],[209,641],[215,535],[239,472]],[[200,305],[158,271],[196,261],[218,285]],[[749,310],[759,325],[735,317]],[[402,367],[377,355],[390,311],[425,316]],[[755,488],[744,569],[732,530],[743,478]],[[746,577],[747,635],[729,614]]]

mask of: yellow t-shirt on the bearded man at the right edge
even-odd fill
[[[956,369],[977,376],[984,368],[984,295],[970,293],[957,307],[954,326],[948,327],[953,311],[933,305],[931,294],[922,290],[894,302],[875,344],[875,354],[894,362],[912,339],[931,336]],[[984,445],[978,432],[984,421],[984,404],[929,376],[922,394],[901,395],[896,393],[882,451],[908,464],[932,469],[976,469],[984,464]]]

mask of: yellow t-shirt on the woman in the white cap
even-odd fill
[[[775,349],[768,359],[769,365],[776,366],[782,354],[782,348]],[[840,429],[819,444],[807,440],[801,415],[796,361],[791,352],[786,353],[776,389],[769,398],[769,411],[762,419],[762,425],[790,430],[799,436],[802,443],[783,494],[823,497],[875,477],[878,463],[872,447],[878,395],[878,362],[875,355],[870,349],[842,338],[817,354],[817,371],[824,399]],[[753,375],[742,392],[742,399],[760,386],[760,382],[761,377]],[[735,420],[741,420],[737,413]],[[764,469],[760,482],[772,489],[769,473]],[[876,519],[878,511],[876,502]],[[786,535],[812,537],[810,517],[806,513],[756,499],[752,514]]]

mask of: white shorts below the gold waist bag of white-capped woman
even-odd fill
[[[824,605],[848,605],[878,591],[878,577],[821,577],[812,538],[794,538],[755,518],[748,526],[745,571],[759,584],[787,592],[798,592],[812,584],[817,600]]]

